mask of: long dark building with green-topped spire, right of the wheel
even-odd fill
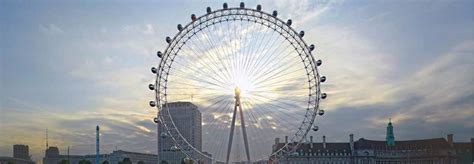
[[[447,138],[396,141],[392,122],[387,126],[385,141],[367,140],[354,142],[353,135],[348,143],[327,143],[323,136],[322,143],[302,144],[294,153],[276,160],[276,163],[298,164],[471,164],[473,163],[473,143],[454,143],[453,135]],[[275,152],[288,143],[276,139],[273,145]]]

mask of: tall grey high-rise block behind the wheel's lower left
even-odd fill
[[[194,148],[202,150],[202,118],[198,107],[190,102],[173,102],[166,106],[176,128],[186,141]],[[163,108],[166,108],[163,106]],[[159,152],[160,163],[181,163],[186,155],[174,145],[172,138],[166,133],[165,127],[158,123],[160,132]],[[183,150],[187,151],[187,150]]]

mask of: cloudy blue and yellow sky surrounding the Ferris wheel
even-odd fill
[[[27,144],[41,160],[46,129],[50,146],[90,154],[96,125],[104,152],[156,152],[156,51],[222,3],[1,1],[0,155]],[[384,140],[389,118],[397,140],[474,137],[473,1],[246,1],[257,4],[291,18],[323,60],[316,141]]]

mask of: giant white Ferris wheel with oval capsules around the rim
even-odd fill
[[[158,139],[171,138],[170,149],[194,161],[251,162],[298,153],[309,131],[318,130],[315,118],[324,114],[320,100],[327,97],[320,91],[326,77],[319,75],[315,46],[306,44],[291,19],[260,5],[224,3],[206,11],[178,24],[177,34],[166,37],[166,50],[157,52],[159,65],[151,69],[156,81],[148,87],[156,92],[149,102],[158,110],[155,122],[165,129]],[[199,110],[202,147],[179,130],[173,120],[179,112],[167,105],[174,102]],[[272,147],[285,136],[278,142],[283,146]]]

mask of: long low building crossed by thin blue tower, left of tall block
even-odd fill
[[[45,157],[43,158],[43,164],[60,164],[61,161],[69,161],[69,164],[79,164],[80,161],[88,161],[94,163],[97,159],[96,154],[90,155],[62,155],[59,153],[57,147],[49,147],[46,150]],[[154,154],[144,154],[128,152],[123,150],[113,151],[110,154],[99,154],[100,163],[102,164],[118,164],[124,159],[130,159],[133,164],[156,164],[158,163],[158,156]]]

